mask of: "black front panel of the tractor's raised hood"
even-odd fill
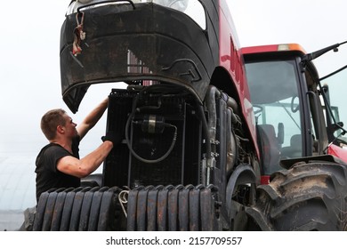
[[[151,79],[182,84],[202,100],[218,63],[206,31],[184,13],[157,4],[85,10],[86,37],[82,52],[74,56],[76,27],[76,14],[68,15],[61,27],[61,91],[74,113],[91,84],[108,82]]]

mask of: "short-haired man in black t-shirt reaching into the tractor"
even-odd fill
[[[100,120],[108,107],[103,100],[77,126],[61,108],[52,109],[41,119],[41,130],[49,141],[36,157],[36,201],[40,195],[53,188],[77,188],[80,179],[93,173],[118,142],[112,135],[102,137],[102,144],[93,152],[79,158],[78,144],[85,134]]]

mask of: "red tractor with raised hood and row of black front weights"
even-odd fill
[[[92,84],[125,83],[110,89],[106,125],[122,142],[80,188],[44,192],[33,230],[342,229],[346,169],[323,140],[314,67],[296,52],[288,64],[303,65],[301,78],[272,85],[248,75],[246,52],[225,0],[71,1],[61,26],[62,98],[76,113]],[[281,120],[268,103],[298,121]],[[263,135],[275,121],[278,155]],[[296,133],[303,152],[285,154]],[[299,224],[301,206],[326,222]]]

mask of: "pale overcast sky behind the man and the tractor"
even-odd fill
[[[347,40],[347,4],[343,0],[227,0],[241,46],[299,43],[307,52]],[[61,100],[59,44],[70,0],[4,1],[0,15],[0,156],[35,155],[45,144],[39,121]],[[321,76],[347,64],[347,45],[316,60]],[[344,54],[343,54],[344,52]],[[346,76],[347,74],[344,74]],[[345,80],[346,78],[344,78]],[[335,86],[336,85],[336,86]],[[347,84],[334,84],[343,100]],[[111,86],[91,87],[77,112],[77,122],[109,94]],[[343,110],[340,110],[343,112]],[[347,120],[347,115],[345,115]],[[85,137],[81,154],[94,149],[105,118]]]

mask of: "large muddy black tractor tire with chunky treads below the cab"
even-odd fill
[[[257,202],[246,213],[251,229],[347,230],[346,165],[299,162],[271,175],[269,185],[257,189]]]

